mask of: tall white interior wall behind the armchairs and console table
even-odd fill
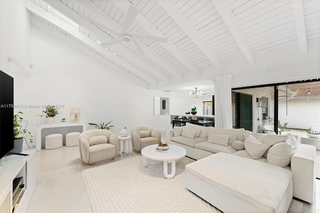
[[[23,1],[17,3],[23,4]],[[19,105],[15,112],[23,112],[24,119],[29,121],[28,130],[33,135],[36,126],[43,122],[37,114],[44,108],[32,108],[30,105],[42,104],[63,105],[55,117],[56,122],[63,117],[69,120],[71,107],[80,107],[80,122],[112,120],[114,127],[111,131],[116,134],[124,126],[129,130],[136,124],[150,125],[159,130],[170,127],[169,115],[153,116],[153,96],[170,97],[168,92],[146,89],[29,21],[13,24],[2,14],[6,6],[2,3],[0,7],[1,43],[21,42],[15,40],[20,36],[11,35],[17,28],[30,40],[23,40],[28,44],[21,45],[18,50],[10,45],[1,46],[0,69],[14,77],[14,103]],[[19,6],[16,11],[15,7],[10,8],[12,14],[21,9]],[[27,14],[23,15],[28,19]],[[9,24],[3,30],[6,21]],[[7,55],[16,60],[7,63]],[[26,66],[26,70],[23,66],[25,61],[32,61],[32,68]],[[21,69],[25,71],[17,71]]]

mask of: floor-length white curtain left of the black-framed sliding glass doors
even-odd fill
[[[214,126],[232,128],[231,74],[214,77]]]

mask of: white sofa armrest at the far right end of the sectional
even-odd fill
[[[291,156],[293,196],[309,203],[313,202],[315,189],[315,146],[298,144]]]

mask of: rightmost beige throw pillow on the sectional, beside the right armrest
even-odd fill
[[[270,164],[285,167],[290,164],[291,156],[296,150],[297,146],[290,142],[279,142],[269,148],[268,153],[266,154],[266,160]]]

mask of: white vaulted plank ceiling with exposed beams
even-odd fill
[[[30,0],[27,9],[33,24],[146,88],[205,89],[215,75],[318,60],[319,46],[308,42],[320,38],[320,0]],[[122,28],[167,42],[118,42]]]

